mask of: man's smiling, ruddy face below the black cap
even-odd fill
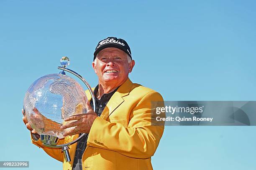
[[[134,60],[128,63],[127,54],[122,50],[108,47],[98,53],[92,67],[100,82],[111,82],[119,86],[127,80],[134,64]]]

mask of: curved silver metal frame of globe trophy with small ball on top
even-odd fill
[[[95,96],[94,96],[92,88],[90,87],[88,82],[81,75],[79,75],[77,72],[74,72],[73,70],[65,68],[67,65],[69,65],[69,58],[68,57],[62,57],[61,58],[61,65],[63,67],[60,67],[60,66],[58,67],[58,69],[61,70],[61,72],[59,72],[59,74],[66,75],[66,73],[64,71],[70,72],[73,75],[77,76],[80,80],[82,80],[82,82],[84,82],[84,84],[87,86],[87,88],[90,91],[90,94],[92,95],[93,110],[94,110],[94,112],[96,112]],[[83,133],[76,140],[73,140],[72,142],[69,142],[69,143],[66,143],[66,144],[62,144],[62,145],[49,145],[50,143],[47,143],[47,141],[55,140],[55,142],[57,143],[57,139],[55,139],[55,138],[54,139],[50,139],[50,138],[53,138],[53,136],[49,136],[49,135],[41,135],[41,141],[42,140],[46,141],[46,143],[43,143],[43,145],[46,146],[46,147],[49,147],[49,148],[62,148],[62,151],[64,153],[66,162],[70,162],[71,159],[70,159],[70,155],[69,155],[69,151],[68,151],[68,149],[69,149],[68,146],[72,145],[73,143],[76,143],[79,139],[84,137],[84,135],[86,135],[86,133]]]

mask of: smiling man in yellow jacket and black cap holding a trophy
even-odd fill
[[[98,43],[92,67],[99,84],[94,88],[96,112],[87,103],[86,114],[68,117],[76,120],[61,126],[72,130],[65,133],[58,145],[69,143],[87,133],[82,140],[69,146],[71,162],[64,160],[61,148],[44,147],[26,117],[23,121],[31,130],[32,143],[51,157],[63,162],[64,170],[151,170],[154,155],[164,126],[151,122],[154,101],[163,101],[158,92],[134,84],[128,78],[135,61],[127,42],[108,37]],[[87,92],[88,101],[90,93]],[[91,101],[92,104],[92,101]]]

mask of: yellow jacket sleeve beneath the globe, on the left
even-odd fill
[[[39,148],[42,148],[48,155],[50,155],[52,158],[59,160],[61,162],[64,161],[64,155],[61,151],[61,148],[49,148],[43,145],[43,143],[41,143],[41,140],[35,140],[32,136],[31,133],[31,141],[34,145],[38,146]],[[57,145],[62,145],[64,144],[64,139],[59,139]]]

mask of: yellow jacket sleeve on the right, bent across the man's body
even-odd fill
[[[152,107],[152,101],[159,102]],[[151,91],[130,113],[127,128],[120,123],[97,117],[92,124],[87,145],[113,150],[132,158],[150,158],[154,155],[164,131],[163,124],[151,125],[151,112],[154,112],[156,107],[164,107],[163,98],[158,92]],[[165,116],[165,113],[161,116]]]

